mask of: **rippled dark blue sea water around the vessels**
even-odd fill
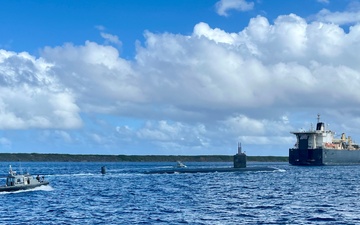
[[[51,185],[1,193],[0,224],[360,224],[360,166],[248,163],[279,170],[143,174],[174,164],[22,163]],[[0,163],[1,174],[8,165]]]

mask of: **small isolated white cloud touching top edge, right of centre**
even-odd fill
[[[254,8],[253,2],[246,0],[220,0],[216,3],[216,12],[220,16],[228,16],[229,10],[249,11]]]

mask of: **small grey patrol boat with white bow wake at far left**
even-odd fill
[[[48,185],[49,182],[38,175],[33,178],[30,174],[17,174],[13,171],[11,165],[9,166],[9,174],[6,177],[6,185],[0,186],[0,192],[2,191],[19,191],[36,188],[42,185]]]

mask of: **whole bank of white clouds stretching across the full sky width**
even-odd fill
[[[40,58],[1,50],[0,126],[78,128],[80,113],[102,114],[145,121],[108,122],[111,138],[87,134],[102,145],[210,153],[241,140],[286,148],[289,131],[303,125],[294,124],[299,112],[359,118],[360,25],[345,32],[341,24],[257,16],[229,33],[201,22],[188,36],[145,32],[131,61],[91,41],[46,47]]]

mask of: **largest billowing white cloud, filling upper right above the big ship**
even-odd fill
[[[256,17],[236,34],[200,23],[191,37],[148,33],[137,62],[146,83],[156,87],[147,96],[183,108],[301,106],[320,101],[318,92],[335,95],[327,88],[335,81],[340,85],[336,95],[355,104],[358,94],[350,100],[341,91],[344,74],[359,76],[355,36],[357,26],[346,34],[338,25],[308,24],[293,14],[278,17],[273,25]],[[332,77],[325,80],[319,71]],[[328,103],[339,104],[333,98]]]

